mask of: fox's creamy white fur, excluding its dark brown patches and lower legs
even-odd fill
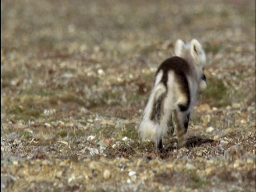
[[[154,140],[156,143],[167,133],[168,122],[172,116],[175,115],[178,124],[182,124],[183,126],[183,122],[185,121],[185,118],[187,118],[186,115],[194,106],[198,89],[203,90],[206,87],[206,82],[202,79],[203,68],[206,63],[202,45],[196,39],[192,39],[189,44],[185,44],[181,39],[178,39],[175,43],[174,53],[175,55],[186,59],[191,66],[191,69],[193,69],[191,74],[187,75],[190,90],[190,106],[188,111],[185,112],[175,110],[179,109],[180,104],[187,102],[187,97],[181,91],[179,81],[175,78],[174,71],[168,71],[167,87],[165,87],[161,82],[163,71],[160,70],[156,74],[155,83],[143,113],[142,122],[139,126],[141,138]],[[150,116],[154,108],[154,103],[163,94],[166,95],[163,99],[163,108],[161,110],[160,119],[158,122],[152,121]],[[176,112],[174,113],[174,111]]]

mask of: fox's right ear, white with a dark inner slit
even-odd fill
[[[190,54],[197,62],[205,64],[206,58],[203,47],[196,39],[192,39],[190,43]]]

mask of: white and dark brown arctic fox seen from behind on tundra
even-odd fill
[[[156,71],[154,86],[139,126],[140,137],[154,140],[156,149],[161,152],[163,136],[173,133],[173,123],[176,125],[178,146],[185,146],[190,111],[198,91],[206,88],[206,57],[202,45],[196,39],[189,44],[178,39],[174,54]]]

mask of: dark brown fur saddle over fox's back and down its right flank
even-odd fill
[[[190,105],[190,92],[188,86],[188,79],[186,77],[186,74],[188,74],[190,70],[188,62],[185,59],[174,56],[162,62],[162,64],[158,67],[156,74],[158,74],[160,70],[163,70],[163,77],[161,79],[161,82],[163,82],[166,89],[168,89],[168,71],[174,71],[175,75],[178,77],[179,83],[181,84],[182,91],[186,94],[186,97],[188,98],[186,105],[179,105],[179,108],[181,111],[188,110]]]

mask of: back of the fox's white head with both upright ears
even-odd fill
[[[181,39],[178,39],[175,43],[174,54],[189,62],[193,62],[201,70],[203,70],[206,65],[204,49],[196,39],[192,39],[188,44],[185,44]]]

